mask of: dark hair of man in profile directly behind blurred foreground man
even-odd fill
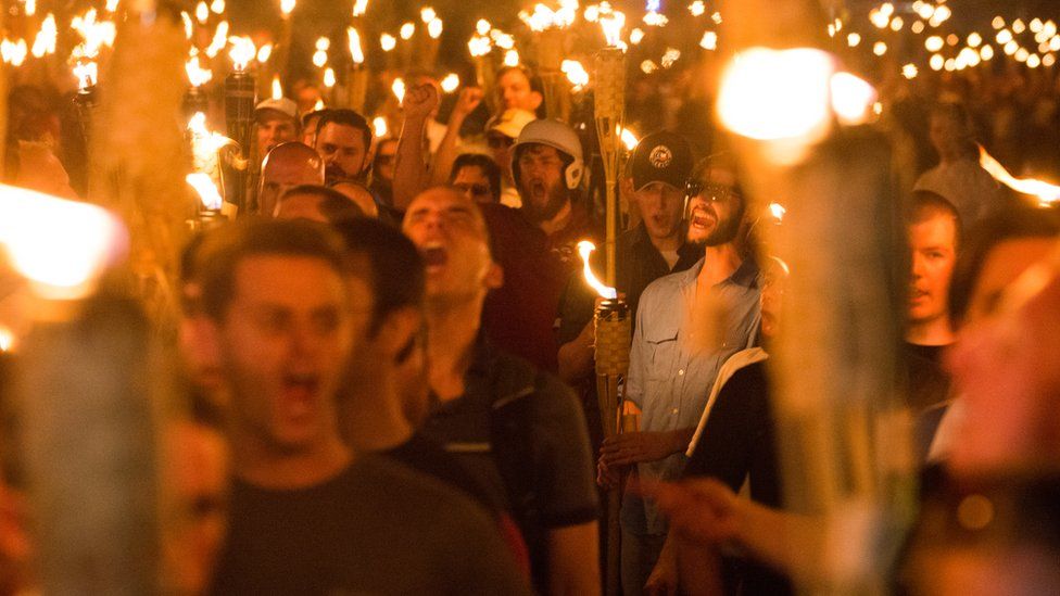
[[[405,234],[368,218],[339,221],[333,227],[345,240],[351,257],[348,270],[371,288],[370,334],[377,333],[394,310],[422,307],[427,272],[419,251]],[[367,270],[361,259],[367,262]]]

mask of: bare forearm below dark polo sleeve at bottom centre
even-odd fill
[[[600,594],[600,535],[597,523],[548,531],[548,593]]]

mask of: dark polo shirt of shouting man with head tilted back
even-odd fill
[[[594,462],[581,408],[558,379],[480,341],[465,395],[440,404],[424,434],[505,496],[546,585],[547,531],[595,521]]]

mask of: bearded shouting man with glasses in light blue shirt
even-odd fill
[[[718,370],[754,344],[760,319],[758,267],[741,238],[747,199],[735,164],[709,157],[692,172],[687,241],[702,248],[691,269],[644,290],[626,380],[626,400],[641,410],[640,430],[607,439],[600,478],[614,485],[632,466],[622,497],[623,594],[641,594],[666,538],[666,521],[636,490],[640,480],[673,480],[683,469]]]

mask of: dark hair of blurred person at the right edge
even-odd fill
[[[957,256],[949,282],[949,317],[960,327],[971,305],[986,257],[998,244],[1026,238],[1053,238],[1060,234],[1060,218],[1055,210],[1017,206],[982,221],[973,228]]]

